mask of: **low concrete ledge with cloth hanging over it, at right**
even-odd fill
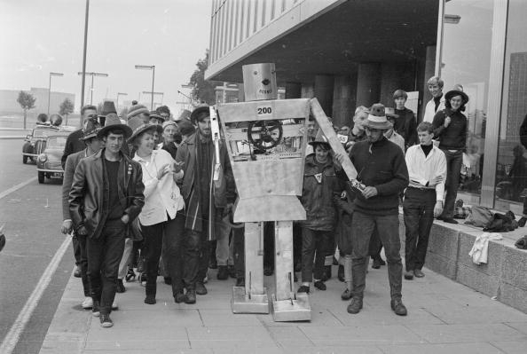
[[[400,215],[399,219],[401,240],[404,242],[403,216]],[[468,253],[483,229],[435,221],[430,232],[426,266],[527,313],[527,251],[514,246],[514,241],[526,232],[523,229],[504,232],[504,240],[489,241],[488,263],[478,265],[472,262]]]

